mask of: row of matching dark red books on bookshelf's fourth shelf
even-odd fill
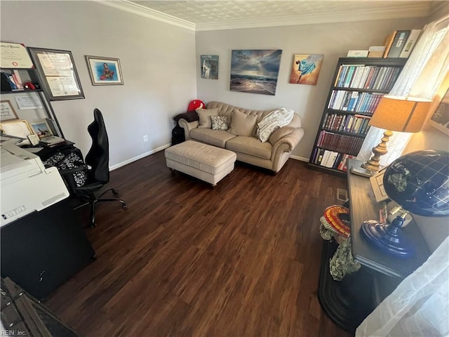
[[[322,130],[319,134],[316,146],[333,149],[337,152],[357,154],[363,144],[363,138],[342,135]]]

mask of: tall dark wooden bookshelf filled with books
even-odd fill
[[[344,174],[370,128],[380,98],[398,79],[405,58],[340,58],[316,133],[309,166]]]

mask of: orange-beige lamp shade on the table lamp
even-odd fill
[[[420,132],[431,103],[425,98],[384,95],[370,125],[391,131]]]

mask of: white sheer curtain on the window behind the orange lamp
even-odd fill
[[[422,35],[390,95],[413,96],[432,99],[449,70],[449,17],[431,22]],[[371,149],[380,143],[384,130],[371,127],[366,135],[357,159],[366,161],[372,155]],[[387,144],[388,153],[380,157],[382,166],[401,156],[411,133],[394,132]]]

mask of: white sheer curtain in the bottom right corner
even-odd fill
[[[358,326],[356,337],[449,335],[449,237]]]

